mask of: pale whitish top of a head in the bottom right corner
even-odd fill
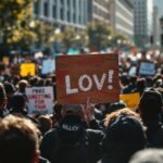
[[[163,150],[146,149],[135,153],[129,163],[163,163]]]

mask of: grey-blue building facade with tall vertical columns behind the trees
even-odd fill
[[[38,0],[34,3],[37,18],[73,27],[84,28],[87,24],[88,0]]]

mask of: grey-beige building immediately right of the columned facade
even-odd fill
[[[88,21],[101,21],[109,23],[110,0],[88,0]]]

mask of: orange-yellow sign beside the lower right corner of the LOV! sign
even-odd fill
[[[121,95],[120,100],[124,101],[128,108],[136,109],[140,101],[140,95],[138,92]]]

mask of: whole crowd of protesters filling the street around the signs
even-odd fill
[[[55,75],[21,77],[1,66],[0,163],[162,163],[163,58],[134,57],[120,57],[121,93],[140,95],[133,110],[124,101],[54,99],[52,114],[29,114],[25,89],[51,86],[57,97]],[[154,64],[153,75],[139,74],[142,61]]]

